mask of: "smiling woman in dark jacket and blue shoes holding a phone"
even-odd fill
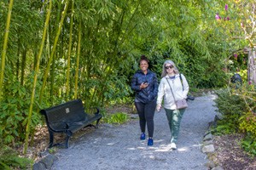
[[[154,111],[158,82],[154,72],[148,70],[148,59],[142,55],[140,59],[141,70],[137,71],[131,80],[131,89],[136,92],[135,106],[140,118],[141,137],[146,139],[145,129],[148,128],[148,145],[153,145]]]

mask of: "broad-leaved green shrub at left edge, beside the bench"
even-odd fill
[[[0,136],[5,144],[20,142],[25,139],[31,94],[29,88],[29,86],[21,86],[20,82],[6,83],[4,86],[5,98],[0,103],[0,111],[2,113],[0,116]],[[41,123],[41,117],[34,111],[32,128],[39,123]]]

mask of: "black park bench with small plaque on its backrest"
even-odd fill
[[[68,141],[73,133],[83,127],[98,127],[102,115],[96,108],[96,113],[87,114],[84,112],[84,106],[81,99],[68,101],[67,103],[56,105],[48,109],[41,110],[40,113],[45,116],[46,124],[49,131],[49,148],[63,144],[54,144],[54,133],[65,133],[66,142],[64,146],[68,148]],[[93,125],[92,122],[96,122]]]

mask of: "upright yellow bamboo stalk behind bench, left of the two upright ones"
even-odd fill
[[[72,0],[71,0],[72,1]],[[72,35],[73,35],[73,2],[72,2],[72,8],[71,8],[71,20],[70,20],[70,30],[69,30],[69,44],[68,44],[68,52],[67,52],[67,82],[66,82],[66,99],[69,97],[69,80],[70,80],[70,56],[71,56],[71,48],[72,48]]]

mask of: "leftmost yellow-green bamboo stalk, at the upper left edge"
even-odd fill
[[[5,57],[6,57],[6,51],[7,51],[7,42],[9,37],[9,25],[11,20],[11,14],[12,14],[12,8],[13,8],[14,0],[9,0],[9,10],[8,10],[8,16],[6,20],[6,27],[5,27],[5,33],[4,33],[4,40],[3,40],[3,51],[2,51],[2,65],[1,65],[1,75],[0,75],[0,101],[2,100],[2,88],[3,88],[3,75],[4,75],[4,68],[5,68]]]

